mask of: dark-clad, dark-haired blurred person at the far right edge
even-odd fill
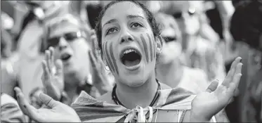
[[[228,105],[230,122],[262,122],[262,2],[240,2],[232,15],[230,32],[244,63],[239,96]]]

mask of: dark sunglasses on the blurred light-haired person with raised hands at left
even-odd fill
[[[59,41],[62,37],[66,41],[72,42],[75,39],[79,39],[81,37],[84,37],[84,35],[81,32],[68,32],[68,33],[65,33],[65,34],[63,34],[62,36],[59,36],[59,37],[51,37],[51,38],[47,39],[48,47],[49,46],[53,46],[53,47],[58,46]]]

